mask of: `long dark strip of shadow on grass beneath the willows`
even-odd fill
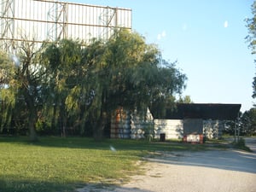
[[[28,137],[0,137],[0,143],[16,143],[50,148],[88,148],[101,150],[109,150],[110,147],[113,147],[116,150],[141,150],[149,152],[172,150],[198,151],[209,148],[206,144],[191,145],[179,141],[149,143],[145,140],[104,139],[101,142],[96,142],[93,138],[89,137],[39,137],[38,142],[30,142]]]

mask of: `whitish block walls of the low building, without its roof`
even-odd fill
[[[166,139],[183,138],[183,119],[153,119],[149,109],[141,114],[137,111],[128,111],[119,108],[113,112],[111,120],[111,138],[140,139],[147,137],[147,129],[154,126],[154,138],[160,139],[165,133]],[[203,120],[203,135],[208,139],[217,139],[222,136],[224,121]]]

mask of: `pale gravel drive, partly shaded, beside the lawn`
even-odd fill
[[[256,139],[248,140],[256,149]],[[79,190],[114,192],[256,192],[256,151],[212,149],[169,152],[148,158],[146,174],[119,188]]]

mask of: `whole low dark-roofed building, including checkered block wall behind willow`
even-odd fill
[[[144,115],[123,108],[113,113],[111,138],[139,139],[148,137],[148,127],[153,126],[154,138],[165,139],[188,136],[195,138],[221,137],[226,120],[236,120],[241,104],[179,103],[167,108],[164,116],[147,111]]]

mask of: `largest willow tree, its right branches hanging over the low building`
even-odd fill
[[[95,137],[102,137],[113,109],[121,106],[145,111],[158,97],[183,89],[185,75],[167,62],[160,67],[159,50],[136,32],[115,32],[103,50],[93,66],[95,73],[91,73],[96,80]]]

